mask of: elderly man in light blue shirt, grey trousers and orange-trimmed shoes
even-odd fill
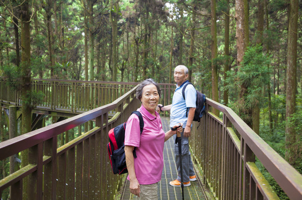
[[[170,127],[176,122],[183,122],[183,132],[181,133],[181,145],[182,145],[182,166],[183,166],[183,182],[184,186],[190,186],[190,181],[196,181],[196,175],[193,169],[193,163],[191,160],[191,154],[189,151],[189,136],[191,136],[192,121],[194,118],[194,112],[196,109],[196,89],[192,84],[189,84],[185,89],[185,97],[183,98],[182,90],[184,85],[189,81],[189,70],[184,65],[178,65],[174,70],[174,80],[176,82],[176,89],[173,95],[172,104],[168,106],[162,106],[158,104],[157,111],[170,111]],[[174,140],[176,135],[173,136]],[[178,153],[178,144],[174,146],[175,162],[177,166],[177,179],[170,182],[171,186],[180,187],[180,160]]]

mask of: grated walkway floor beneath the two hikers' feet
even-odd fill
[[[162,124],[164,131],[169,129],[169,118],[162,117]],[[174,161],[174,140],[171,137],[165,142],[163,150],[164,168],[161,175],[161,181],[158,184],[158,200],[182,200],[181,187],[172,187],[169,185],[170,181],[177,178],[176,164]],[[201,184],[201,177],[197,180],[191,181],[191,186],[184,187],[185,200],[210,200],[208,192]],[[129,191],[129,181],[126,179],[124,186],[122,187],[120,200],[135,200],[136,196]]]

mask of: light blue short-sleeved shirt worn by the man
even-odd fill
[[[178,122],[183,122],[183,127],[186,127],[188,117],[186,117],[187,108],[196,108],[196,89],[192,84],[189,84],[185,90],[185,97],[183,97],[182,90],[186,80],[182,85],[176,85],[176,89],[172,99],[172,106],[170,110],[170,127],[173,127]],[[192,126],[192,125],[191,125]]]

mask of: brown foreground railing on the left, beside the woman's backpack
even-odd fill
[[[12,200],[22,199],[22,181],[31,184],[29,200],[112,200],[121,184],[113,175],[106,143],[107,132],[124,122],[140,106],[135,88],[105,106],[0,143],[0,160],[29,150],[29,164],[0,180],[0,194],[11,186]],[[108,113],[117,110],[113,118]],[[57,148],[57,136],[89,120],[94,128]]]

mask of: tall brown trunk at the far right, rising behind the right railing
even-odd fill
[[[295,126],[289,123],[289,118],[296,112],[298,7],[298,0],[290,0],[286,76],[285,159],[292,165],[298,164],[296,163],[297,153],[301,151],[297,149],[299,148],[299,146],[297,146],[297,140],[299,140],[299,138],[297,138]]]

